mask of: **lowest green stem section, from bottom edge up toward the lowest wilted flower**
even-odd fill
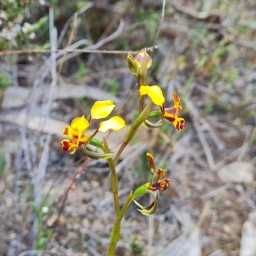
[[[116,218],[116,221],[114,223],[114,226],[113,226],[113,229],[112,229],[112,232],[111,232],[108,256],[114,256],[116,244],[117,244],[118,239],[119,239],[119,236],[118,236],[118,239],[116,238],[117,237],[116,234],[118,234],[118,231],[120,232],[120,228],[121,228],[120,223],[121,223],[122,219],[124,218],[125,212],[127,211],[129,205],[132,202],[132,198],[133,197],[132,197],[132,192],[131,192],[129,194],[129,196],[127,197],[127,199],[126,199],[125,204],[124,204],[122,210],[120,211],[120,214]]]

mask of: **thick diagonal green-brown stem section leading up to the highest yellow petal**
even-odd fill
[[[135,120],[135,122],[131,125],[131,128],[129,129],[129,131],[127,132],[124,142],[122,144],[122,146],[119,148],[118,152],[116,153],[116,157],[114,160],[114,166],[116,166],[117,161],[119,159],[119,157],[121,156],[124,148],[128,145],[128,143],[132,140],[132,138],[134,137],[134,135],[136,134],[136,132],[138,131],[139,126],[145,122],[145,120],[147,120],[148,115],[150,114],[150,110],[152,108],[153,102],[152,100],[150,100],[150,102],[147,104],[146,108],[143,109],[143,111],[141,112],[141,114],[138,116],[138,118]]]

